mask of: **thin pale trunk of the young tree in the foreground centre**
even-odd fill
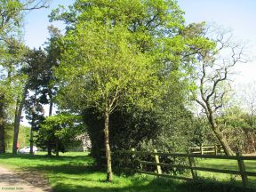
[[[107,159],[107,181],[112,182],[113,180],[113,172],[111,165],[111,149],[109,144],[109,110],[108,108],[105,111],[104,115],[104,133],[105,133],[105,149],[106,149],[106,159]]]

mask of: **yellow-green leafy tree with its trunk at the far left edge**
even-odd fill
[[[1,146],[0,151],[4,149],[4,124],[8,121],[12,121],[12,115],[14,114],[13,107],[15,106],[15,100],[19,97],[21,82],[25,76],[20,75],[17,68],[20,68],[20,60],[24,54],[24,45],[20,44],[15,39],[10,39],[9,44],[4,44],[2,47],[4,54],[2,55],[0,66],[0,97],[1,97],[1,117],[2,121],[0,124],[1,130]]]

